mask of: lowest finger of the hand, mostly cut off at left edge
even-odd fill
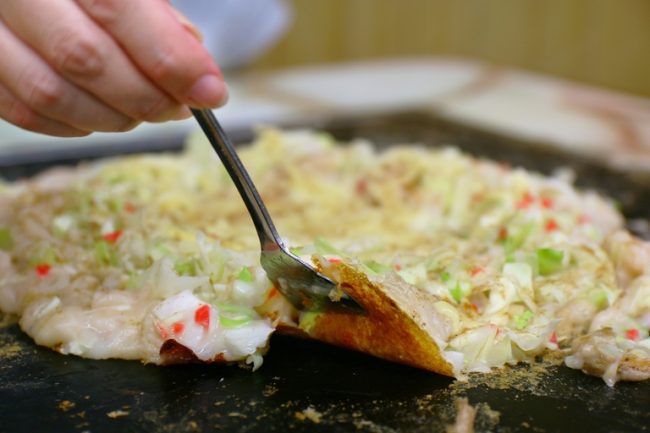
[[[57,137],[83,137],[90,132],[48,119],[31,110],[0,84],[0,117],[19,128]]]

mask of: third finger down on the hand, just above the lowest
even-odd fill
[[[30,110],[73,128],[123,131],[133,120],[60,77],[0,20],[0,83]]]

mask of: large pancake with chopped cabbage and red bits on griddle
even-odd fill
[[[365,315],[298,312],[209,145],[0,187],[0,308],[87,358],[261,366],[274,331],[462,377],[541,355],[650,377],[650,244],[567,179],[454,148],[264,130],[241,157],[292,251]]]

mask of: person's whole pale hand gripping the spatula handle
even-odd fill
[[[62,137],[188,117],[227,99],[165,0],[0,0],[0,117]]]

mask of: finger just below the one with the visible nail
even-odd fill
[[[2,0],[0,14],[60,75],[137,120],[176,116],[180,104],[156,87],[73,0]]]

